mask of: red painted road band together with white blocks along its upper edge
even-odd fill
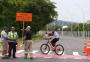
[[[16,56],[17,57],[24,57],[23,51],[24,50],[17,51]],[[33,50],[32,51],[34,58],[88,59],[88,60],[90,60],[90,56],[81,56],[81,55],[79,55],[78,52],[73,52],[72,55],[65,54],[65,52],[63,55],[56,55],[56,54],[45,55],[45,54],[41,54],[41,53],[37,53],[37,52],[40,52],[40,51],[39,50]],[[1,53],[0,53],[0,57],[2,57]]]

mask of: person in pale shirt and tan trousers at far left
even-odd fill
[[[2,59],[7,58],[8,53],[8,28],[4,27],[1,31],[1,40],[3,41],[3,51],[2,51]]]

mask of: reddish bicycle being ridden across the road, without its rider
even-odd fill
[[[54,50],[53,50],[54,48]],[[55,47],[52,46],[51,42],[44,43],[40,47],[40,51],[43,54],[48,54],[50,50],[54,51],[57,55],[62,55],[64,53],[64,47],[61,44],[56,44]]]

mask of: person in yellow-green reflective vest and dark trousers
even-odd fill
[[[11,52],[13,50],[13,58],[16,58],[16,44],[18,41],[18,34],[15,31],[15,27],[11,27],[11,31],[8,33],[8,39],[9,39],[9,58],[11,57]]]

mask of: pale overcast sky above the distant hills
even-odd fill
[[[56,5],[58,20],[86,22],[90,20],[90,0],[51,0]]]

